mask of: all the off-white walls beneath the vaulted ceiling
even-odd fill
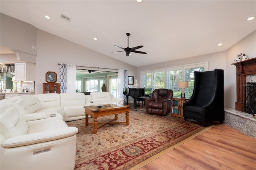
[[[30,47],[37,45],[35,65],[36,93],[43,93],[42,83],[45,82],[46,72],[56,72],[59,81],[60,74],[58,63],[111,69],[127,69],[127,75],[134,76],[134,79],[137,79],[138,84],[140,84],[140,71],[208,61],[209,71],[215,68],[224,69],[224,105],[235,108],[236,67],[231,65],[231,63],[234,63],[234,59],[238,53],[245,53],[249,58],[256,57],[256,31],[252,32],[226,51],[137,68],[42,30],[37,30],[30,24],[4,14],[1,14],[0,26],[1,45],[6,45],[6,47],[12,49],[16,48],[16,50],[33,55],[36,54],[36,50]],[[35,30],[37,30],[37,36],[35,36]],[[24,34],[24,32],[26,34]],[[11,35],[8,37],[7,35],[9,34]],[[1,55],[1,58],[4,57],[5,56]],[[170,59],[171,57],[170,55]],[[12,60],[14,59],[12,58]],[[42,78],[42,81],[39,81],[39,78]]]

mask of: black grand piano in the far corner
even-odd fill
[[[137,111],[137,99],[145,95],[145,88],[124,88],[124,95],[126,96],[126,105],[128,105],[128,97],[134,99],[134,110]]]

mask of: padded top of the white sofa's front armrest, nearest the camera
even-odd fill
[[[14,136],[4,140],[4,142],[2,142],[2,146],[5,148],[13,148],[18,146],[47,142],[73,136],[77,132],[78,128],[76,127],[65,127],[38,133],[26,134],[22,136]]]

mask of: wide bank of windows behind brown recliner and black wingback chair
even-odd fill
[[[207,71],[208,62],[194,63],[191,65],[181,65],[178,67],[170,67],[141,71],[141,87],[150,89],[172,89],[173,97],[180,97],[181,89],[178,88],[179,81],[188,81],[188,88],[185,89],[185,96],[190,98],[194,90],[194,71]]]

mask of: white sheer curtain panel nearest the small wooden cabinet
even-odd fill
[[[67,91],[76,93],[76,65],[67,64]]]

